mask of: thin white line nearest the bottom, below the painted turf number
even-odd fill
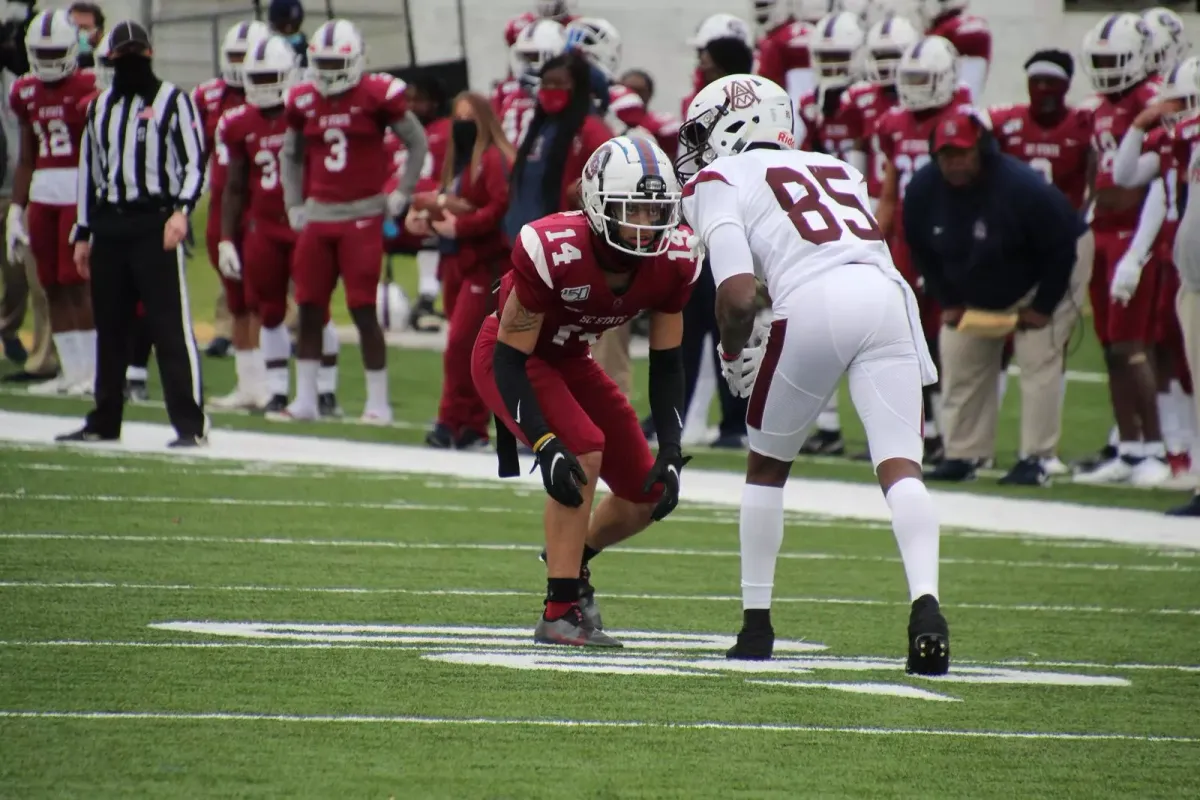
[[[1200,744],[1190,736],[1136,733],[1070,733],[1042,730],[936,730],[928,728],[834,727],[755,722],[649,722],[638,720],[518,720],[504,717],[430,717],[376,715],[245,714],[229,711],[4,711],[7,720],[89,720],[96,722],[289,722],[293,724],[491,726],[528,728],[642,728],[652,730],[742,730],[870,736],[950,736],[962,739],[1055,739],[1067,741],[1138,741]]]

